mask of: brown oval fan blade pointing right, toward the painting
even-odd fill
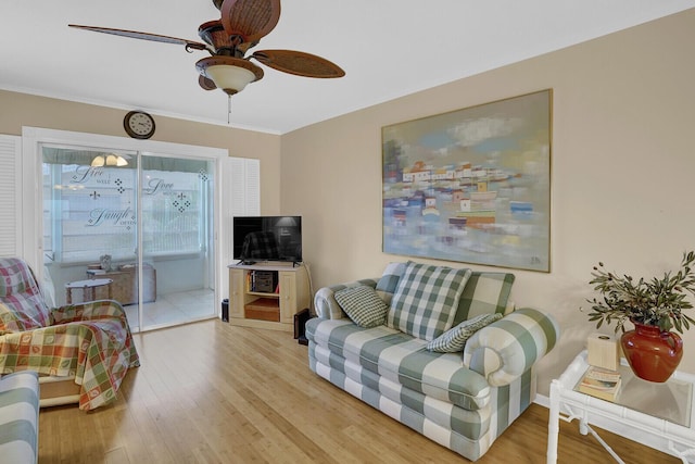
[[[305,77],[342,77],[345,72],[337,64],[315,54],[294,50],[261,50],[253,58],[283,73]]]

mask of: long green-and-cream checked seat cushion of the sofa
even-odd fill
[[[490,402],[490,386],[460,355],[428,351],[427,342],[400,330],[363,328],[348,319],[313,318],[306,337],[355,365],[410,390],[476,411]]]

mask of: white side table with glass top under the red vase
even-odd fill
[[[560,419],[578,419],[580,432],[591,432],[619,463],[623,461],[590,424],[599,425],[642,444],[673,454],[684,463],[695,462],[695,376],[675,372],[668,381],[656,384],[635,377],[624,359],[621,360],[621,364],[622,387],[616,402],[601,400],[576,390],[589,368],[586,351],[582,351],[572,361],[559,379],[551,383],[548,464],[557,462]]]

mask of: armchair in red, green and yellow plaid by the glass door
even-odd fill
[[[128,368],[139,365],[118,302],[49,309],[29,266],[0,258],[0,375],[37,371],[42,379],[68,380],[78,387],[79,409],[88,411],[115,400]],[[45,398],[42,384],[42,405],[64,402],[74,400]]]

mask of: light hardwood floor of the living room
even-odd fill
[[[114,404],[41,410],[39,463],[467,462],[317,377],[291,334],[213,319],[135,340],[142,365]],[[478,462],[543,463],[546,434],[547,410],[533,404]],[[627,463],[680,462],[602,436]],[[611,457],[563,422],[559,462]]]

